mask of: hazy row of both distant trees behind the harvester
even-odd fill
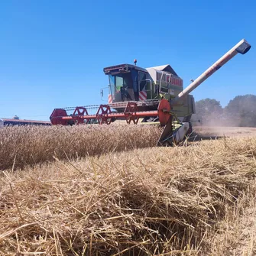
[[[201,99],[195,118],[201,125],[256,127],[256,96],[236,96],[225,108],[216,99]]]

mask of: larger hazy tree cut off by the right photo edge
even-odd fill
[[[224,114],[232,125],[255,127],[256,96],[251,94],[236,96],[225,107]]]

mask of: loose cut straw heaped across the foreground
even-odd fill
[[[255,153],[255,138],[226,139],[5,172],[0,251],[210,254],[219,221],[248,186],[255,196]]]

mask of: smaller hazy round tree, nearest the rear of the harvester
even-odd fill
[[[211,125],[223,113],[220,102],[215,99],[201,99],[196,102],[196,116],[204,125]]]

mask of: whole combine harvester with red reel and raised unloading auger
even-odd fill
[[[50,122],[52,125],[109,125],[116,119],[125,119],[128,124],[158,122],[164,130],[157,145],[179,144],[192,131],[190,118],[195,113],[195,103],[189,93],[237,53],[245,54],[250,48],[247,41],[241,40],[186,89],[170,65],[144,69],[136,66],[134,60],[134,65],[105,67],[103,71],[109,76],[109,104],[54,109]],[[89,115],[89,109],[98,110]],[[67,111],[73,113],[68,115]]]

